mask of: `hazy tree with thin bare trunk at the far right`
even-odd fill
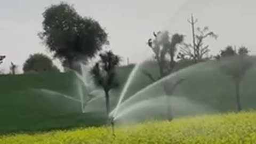
[[[221,57],[219,59],[220,70],[229,75],[234,81],[237,111],[242,110],[240,95],[241,82],[246,72],[253,66],[253,62],[250,60],[247,53],[244,53],[244,50],[247,50],[247,48],[240,47],[237,53],[232,46],[227,46],[225,50],[221,51]]]

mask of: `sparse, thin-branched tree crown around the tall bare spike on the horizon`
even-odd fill
[[[204,60],[206,54],[210,52],[209,45],[204,44],[205,39],[208,37],[217,39],[218,36],[210,31],[208,27],[203,29],[198,27],[197,33],[193,35],[195,35],[195,41],[193,44],[183,43],[178,58],[192,59],[195,63],[198,63]]]

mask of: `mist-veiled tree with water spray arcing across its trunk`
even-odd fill
[[[175,54],[177,51],[177,46],[183,42],[183,35],[174,34],[170,38],[168,31],[153,33],[154,39],[148,40],[148,46],[154,52],[154,60],[157,62],[159,74],[158,78],[154,78],[148,71],[143,70],[143,73],[148,76],[153,82],[158,79],[162,79],[167,75],[171,74],[176,65]],[[169,59],[168,57],[169,56]],[[164,92],[167,98],[173,94],[175,88],[183,81],[179,79],[175,83],[164,82]],[[167,103],[167,119],[172,120],[170,103]]]

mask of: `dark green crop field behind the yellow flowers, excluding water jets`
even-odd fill
[[[124,84],[133,66],[118,69],[118,79]],[[157,75],[157,68],[148,64]],[[241,87],[242,106],[254,109],[256,101],[256,69],[249,71]],[[177,97],[185,97],[197,103],[203,103],[218,112],[236,110],[234,85],[231,79],[220,73],[214,62],[199,64],[184,69],[180,76],[186,81],[174,92]],[[102,113],[81,113],[78,102],[57,95],[40,93],[36,89],[49,89],[77,97],[77,83],[74,74],[27,74],[0,76],[0,133],[48,131],[69,129],[81,126],[100,126],[106,118]],[[132,95],[151,81],[139,71],[127,93]],[[118,99],[118,93],[111,95]],[[154,93],[154,92],[153,92]],[[152,94],[152,93],[151,93]],[[159,94],[155,91],[155,95]],[[105,106],[99,106],[105,107]]]

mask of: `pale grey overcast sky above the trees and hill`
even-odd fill
[[[0,54],[6,60],[0,69],[9,71],[13,61],[20,68],[29,54],[46,48],[38,38],[42,30],[45,7],[59,0],[0,1]],[[109,34],[111,49],[124,60],[140,62],[152,55],[146,45],[153,31],[169,30],[171,34],[186,35],[191,42],[190,13],[198,19],[196,26],[208,26],[218,34],[209,40],[212,54],[226,45],[245,45],[256,53],[256,2],[254,0],[70,0],[77,12],[98,20]],[[59,62],[54,61],[58,66]]]

